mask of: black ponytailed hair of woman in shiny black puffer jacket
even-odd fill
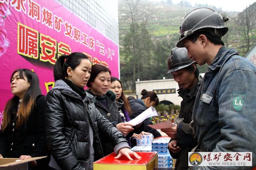
[[[76,69],[82,59],[89,60],[87,55],[80,52],[59,56],[53,69],[54,80],[64,80],[65,77],[68,76],[67,68],[70,67],[72,70]]]

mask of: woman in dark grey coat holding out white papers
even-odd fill
[[[86,90],[95,97],[93,100],[96,108],[106,117],[124,136],[131,137],[134,132],[133,124],[123,122],[115,102],[116,95],[108,90],[111,84],[111,71],[103,65],[95,64],[91,67],[91,77],[87,82]],[[101,137],[104,156],[114,151],[113,145],[106,140],[104,134]]]

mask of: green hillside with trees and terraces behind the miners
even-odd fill
[[[119,48],[121,80],[126,90],[134,89],[137,79],[171,78],[167,73],[167,57],[179,40],[179,29],[184,16],[197,7],[210,7],[229,18],[228,33],[223,41],[234,47],[241,56],[255,44],[256,3],[242,13],[224,12],[207,4],[192,6],[186,1],[167,2],[118,0]],[[199,66],[201,73],[208,68]]]

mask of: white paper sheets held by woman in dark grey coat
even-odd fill
[[[158,114],[156,112],[156,109],[151,106],[150,108],[148,108],[147,110],[145,110],[144,112],[139,114],[137,117],[130,120],[128,123],[133,124],[134,126],[136,126],[137,124],[140,124],[141,122],[143,122],[148,117],[152,117],[152,116],[158,116]]]

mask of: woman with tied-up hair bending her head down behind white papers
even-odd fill
[[[150,108],[151,106],[157,106],[159,103],[158,96],[154,91],[147,91],[143,89],[141,91],[141,95],[141,99],[132,99],[129,101],[130,107],[132,109],[132,114],[130,115],[131,119],[137,117],[139,114],[147,110],[147,108]],[[146,126],[147,124],[153,124],[150,118],[145,119],[143,123],[145,124],[145,132],[152,133],[154,138],[161,136],[157,130]]]

